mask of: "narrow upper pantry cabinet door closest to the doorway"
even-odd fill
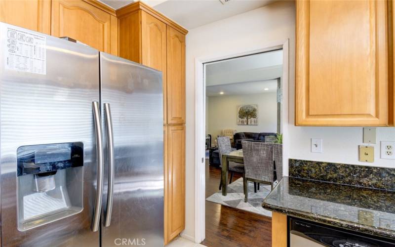
[[[185,124],[185,35],[167,26],[167,124]]]

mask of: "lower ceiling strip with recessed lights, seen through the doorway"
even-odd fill
[[[268,88],[268,90],[265,90]],[[277,91],[277,80],[269,80],[264,82],[241,82],[233,84],[222,84],[206,87],[206,96],[222,96],[222,95],[240,95],[255,94]],[[223,92],[223,94],[220,94]]]

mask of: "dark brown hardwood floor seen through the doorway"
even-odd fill
[[[221,169],[206,160],[206,198],[218,191]],[[235,174],[234,181],[240,176]],[[272,246],[272,218],[206,201],[206,238],[208,247]]]

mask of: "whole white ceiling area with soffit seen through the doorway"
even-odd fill
[[[282,75],[282,50],[208,63],[206,95],[275,92]],[[264,90],[269,88],[269,90]]]

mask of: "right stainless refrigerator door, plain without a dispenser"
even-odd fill
[[[163,246],[162,74],[102,52],[100,67],[101,102],[111,106],[115,156],[112,214],[106,227],[109,157],[103,134],[102,246]],[[103,129],[108,130],[106,124]]]

